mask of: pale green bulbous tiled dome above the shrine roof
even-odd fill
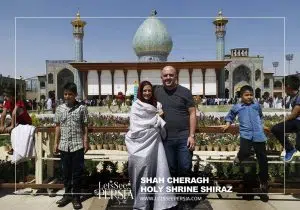
[[[155,15],[153,11],[133,37],[133,49],[140,61],[166,61],[173,47],[166,26]]]

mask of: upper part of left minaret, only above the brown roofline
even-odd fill
[[[71,22],[73,25],[73,37],[75,45],[75,61],[83,61],[83,36],[84,26],[86,22],[80,19],[79,10],[76,14],[76,18]]]

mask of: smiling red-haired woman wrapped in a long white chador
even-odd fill
[[[157,106],[161,107],[153,96],[152,84],[141,82],[137,100],[131,107],[130,128],[125,138],[133,209],[161,210],[177,205],[175,194],[167,192],[172,185],[167,182],[170,172],[162,143],[165,121]],[[145,192],[149,186],[158,193]]]

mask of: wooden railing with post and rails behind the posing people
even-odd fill
[[[119,126],[119,127],[89,127],[88,132],[89,133],[99,133],[99,132],[116,132],[116,133],[125,133],[128,131],[128,127],[125,126]],[[231,133],[233,135],[237,134],[239,132],[238,127],[231,126],[229,129],[226,131],[226,133]],[[208,126],[208,127],[198,127],[196,129],[196,133],[223,133],[221,130],[220,126]],[[50,186],[49,184],[43,183],[43,163],[46,161],[46,167],[47,167],[47,172],[46,175],[47,177],[53,177],[54,176],[54,161],[55,160],[60,160],[58,157],[54,157],[53,155],[53,146],[54,146],[54,137],[55,137],[55,127],[37,127],[36,128],[36,133],[35,133],[35,149],[36,149],[36,157],[35,157],[35,185],[31,184],[32,188],[53,188],[52,185]],[[208,154],[210,153],[210,154]],[[201,160],[199,156],[222,156],[225,157],[223,162],[232,162],[231,160],[228,160],[227,158],[234,157],[236,155],[236,151],[234,152],[215,152],[214,155],[211,153],[213,152],[195,152],[193,161],[205,161],[205,162],[213,162],[212,160]],[[106,151],[106,150],[99,150],[99,152],[93,152],[88,151],[85,154],[85,159],[93,159],[96,161],[115,161],[113,159],[107,158],[109,155],[115,155],[119,157],[119,160],[126,161],[127,160],[127,152],[125,151]],[[274,156],[274,157],[278,157]],[[220,161],[222,162],[222,161]],[[271,163],[272,161],[269,161]],[[273,163],[280,163],[283,164],[282,161],[273,161]],[[218,180],[220,183],[222,180]],[[227,180],[228,181],[228,180]],[[231,180],[235,181],[235,180]],[[226,180],[223,180],[223,182],[226,182]],[[230,180],[228,181],[230,183]],[[13,186],[14,185],[14,186]],[[24,187],[24,184],[9,184],[9,183],[4,183],[0,184],[0,187],[16,187],[16,188],[21,188]],[[54,188],[62,188],[62,184],[55,184],[53,185]],[[276,185],[277,186],[277,185]],[[283,192],[283,189],[274,189],[275,192]],[[278,191],[279,190],[279,191]],[[295,189],[297,192],[299,189]],[[287,192],[287,191],[285,191]]]

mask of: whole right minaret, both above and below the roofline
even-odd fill
[[[220,10],[218,16],[213,21],[216,27],[216,42],[217,42],[217,60],[224,60],[225,56],[225,35],[226,35],[226,24],[228,20],[224,18],[222,11]],[[225,98],[225,71],[224,69],[219,70],[219,84],[218,84],[218,97]]]

